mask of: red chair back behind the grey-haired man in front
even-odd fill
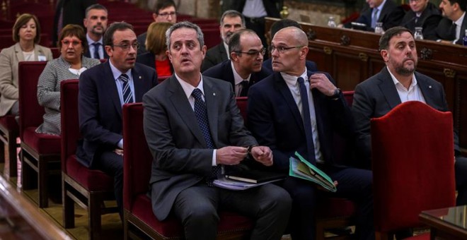
[[[134,197],[149,189],[153,159],[144,137],[142,103],[123,107],[123,143],[123,207],[131,212]]]

